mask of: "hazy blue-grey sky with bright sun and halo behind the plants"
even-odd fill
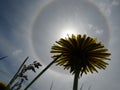
[[[52,61],[51,46],[67,34],[95,37],[112,54],[106,70],[83,74],[83,90],[120,90],[120,0],[0,0],[0,81],[8,83],[20,64],[42,67],[28,72],[27,85]],[[72,90],[73,75],[53,65],[28,90]]]

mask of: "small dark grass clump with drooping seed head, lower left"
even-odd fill
[[[26,65],[25,62],[28,58],[29,57],[24,60],[17,73],[7,85],[9,90],[20,90],[23,82],[28,80],[28,75],[26,72],[33,71],[35,73],[36,69],[39,69],[39,67],[42,66],[38,61],[34,61],[32,64]]]

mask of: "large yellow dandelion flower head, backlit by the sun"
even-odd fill
[[[51,48],[53,60],[56,60],[57,65],[64,66],[64,69],[70,69],[70,73],[79,74],[87,72],[98,72],[98,69],[105,69],[109,60],[110,53],[101,42],[96,38],[91,38],[86,35],[71,35],[66,38],[61,38],[56,41]]]

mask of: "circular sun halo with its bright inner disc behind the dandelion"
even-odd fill
[[[64,5],[63,5],[64,2]],[[69,3],[68,3],[69,2]],[[97,20],[103,20],[102,25],[97,22],[97,20],[93,20],[91,18],[86,18],[89,15],[88,14],[87,8],[83,8],[81,6],[81,3],[83,3],[83,6],[88,6],[89,10],[95,11],[96,13],[90,13],[90,17],[94,14],[99,14],[99,18]],[[74,4],[77,4],[74,6]],[[67,4],[65,6],[65,4]],[[69,5],[70,4],[70,5]],[[80,5],[80,7],[79,7]],[[56,8],[55,8],[56,7]],[[72,8],[70,8],[72,7]],[[62,8],[62,9],[61,9]],[[63,10],[65,8],[65,11]],[[52,11],[52,9],[55,9]],[[86,10],[86,12],[82,11],[83,9]],[[51,13],[51,12],[52,13]],[[67,11],[67,12],[66,12]],[[73,11],[73,13],[71,13]],[[84,12],[84,14],[83,14]],[[50,15],[47,15],[47,14]],[[62,13],[60,15],[60,13]],[[56,15],[56,16],[55,16]],[[59,16],[57,16],[59,15]],[[80,15],[80,16],[79,16]],[[85,16],[84,16],[85,15]],[[79,19],[82,17],[81,19]],[[54,20],[53,20],[54,18]],[[92,17],[93,18],[93,17]],[[45,21],[44,21],[45,19]],[[47,20],[48,19],[48,20]],[[80,21],[81,20],[81,21]],[[91,23],[91,21],[93,22]],[[59,22],[59,23],[58,23]],[[96,24],[97,22],[97,24]],[[56,24],[57,23],[57,24]],[[67,24],[66,24],[67,23]],[[46,24],[46,25],[45,25]],[[54,24],[56,24],[54,26]],[[98,26],[99,24],[99,26]],[[96,26],[95,26],[96,25]],[[53,26],[53,27],[52,27]],[[61,28],[62,27],[62,28]],[[75,30],[70,30],[73,27]],[[77,28],[75,28],[77,27]],[[47,28],[49,31],[47,30]],[[70,29],[69,29],[70,28]],[[69,29],[69,30],[68,30]],[[58,31],[56,31],[58,30]],[[91,31],[93,30],[93,31]],[[64,33],[66,31],[66,33]],[[46,4],[39,12],[37,15],[36,19],[34,20],[33,27],[32,27],[32,35],[31,35],[31,45],[34,54],[36,57],[40,58],[41,63],[43,65],[47,65],[51,62],[51,55],[50,55],[50,49],[54,41],[58,40],[61,37],[61,34],[69,34],[69,33],[79,33],[79,34],[88,34],[92,37],[97,37],[105,43],[105,46],[109,44],[110,40],[110,31],[109,31],[109,25],[106,17],[104,14],[100,11],[100,9],[91,2],[88,1],[72,1],[72,0],[61,0],[61,1],[51,1],[50,3]],[[55,34],[54,34],[55,33]],[[94,33],[94,34],[92,34]],[[103,34],[103,35],[102,35]],[[42,37],[42,38],[41,38]],[[55,67],[53,66],[51,70],[56,71],[56,72],[62,72],[66,74],[66,71],[61,70],[60,67]]]

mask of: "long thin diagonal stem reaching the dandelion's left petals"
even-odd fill
[[[61,54],[62,55],[62,54]],[[27,90],[53,63],[56,62],[56,60],[58,58],[61,57],[61,55],[59,57],[57,57],[55,60],[53,60],[50,64],[48,64],[48,66],[46,66],[28,85],[24,90]]]

